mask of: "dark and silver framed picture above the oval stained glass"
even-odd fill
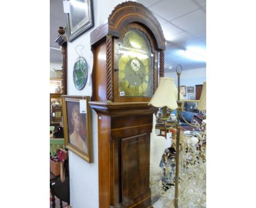
[[[67,13],[68,41],[72,41],[86,30],[94,27],[92,0],[71,0]]]

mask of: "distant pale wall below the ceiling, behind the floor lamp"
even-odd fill
[[[176,74],[176,71],[165,73],[165,77],[174,78],[176,87],[178,86],[178,76]],[[195,85],[203,84],[203,82],[206,81],[206,68],[184,70],[182,71],[180,79],[181,79],[180,80],[181,85],[185,85],[186,87],[194,86],[194,93],[190,93],[190,94],[195,94]],[[186,96],[184,96],[185,100],[189,99],[188,95],[189,94],[187,93],[187,88],[186,88]]]

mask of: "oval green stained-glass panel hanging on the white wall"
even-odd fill
[[[82,90],[88,77],[88,64],[84,57],[79,57],[74,64],[73,80],[75,88]]]

